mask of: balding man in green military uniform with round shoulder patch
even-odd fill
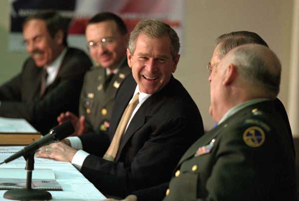
[[[292,142],[275,107],[277,56],[247,44],[209,67],[210,114],[219,125],[181,158],[164,200],[297,200]]]

